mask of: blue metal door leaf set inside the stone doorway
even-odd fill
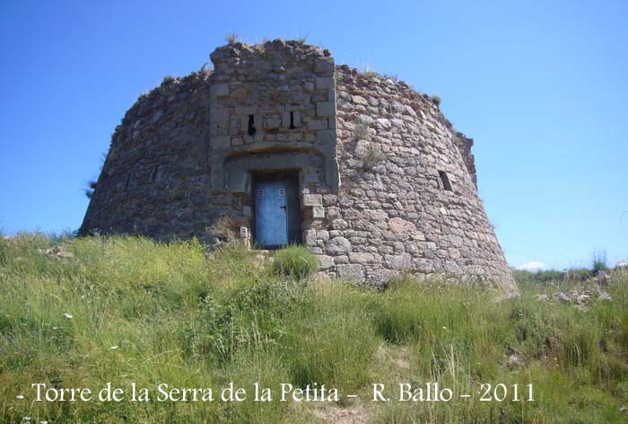
[[[286,181],[258,181],[256,188],[256,241],[260,246],[288,244]]]

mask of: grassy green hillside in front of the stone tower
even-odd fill
[[[604,287],[612,300],[577,307],[537,295],[591,281],[519,273],[521,296],[495,303],[437,280],[402,278],[383,292],[315,282],[298,249],[283,254],[292,261],[259,261],[238,245],[206,258],[196,242],[142,238],[0,241],[0,421],[628,420],[626,274]],[[129,400],[134,382],[150,402]],[[230,382],[248,393],[258,382],[273,401],[221,402]],[[395,401],[397,384],[428,382],[453,399]],[[33,383],[95,394],[110,383],[126,398],[37,402]],[[159,402],[160,383],[214,388],[214,402]],[[281,402],[282,383],[336,387],[340,400]],[[393,401],[372,402],[373,383]],[[481,384],[492,384],[492,401],[480,401]],[[512,402],[513,384],[519,399],[533,384],[534,402]]]

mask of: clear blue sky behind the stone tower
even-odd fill
[[[478,185],[512,266],[628,259],[628,2],[0,4],[0,229],[81,224],[125,111],[236,31],[307,37],[398,75],[475,138]]]

